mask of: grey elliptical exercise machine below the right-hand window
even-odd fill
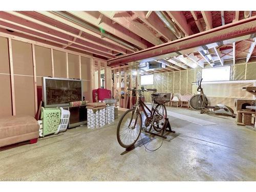
[[[201,87],[202,80],[203,79],[201,78],[201,80],[198,81],[197,91],[200,92],[200,94],[193,95],[188,101],[190,108],[196,111],[201,111],[201,114],[210,113],[236,118],[234,111],[227,105],[217,104],[215,106],[210,106],[210,100],[206,97],[203,88]]]

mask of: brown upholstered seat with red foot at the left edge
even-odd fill
[[[36,143],[39,124],[29,115],[0,117],[0,147],[30,141]]]

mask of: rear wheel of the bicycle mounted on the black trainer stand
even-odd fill
[[[164,104],[158,104],[156,106],[156,111],[154,111],[153,117],[158,118],[158,121],[155,121],[153,124],[153,128],[155,131],[160,132],[163,129],[165,118],[167,117],[167,112]]]

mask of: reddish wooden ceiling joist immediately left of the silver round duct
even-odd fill
[[[168,30],[168,28],[164,27],[162,21],[155,12],[152,12],[148,18],[146,18],[146,11],[133,11],[133,13],[137,18],[156,30],[160,36],[163,36],[168,41],[177,39],[177,37],[170,30]]]

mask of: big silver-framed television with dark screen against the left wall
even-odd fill
[[[67,106],[69,102],[81,100],[81,80],[42,77],[42,101],[45,108]]]

